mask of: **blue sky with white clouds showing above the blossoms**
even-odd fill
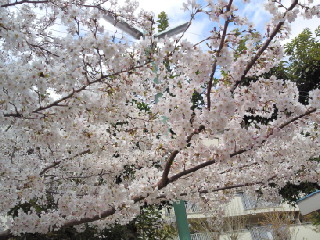
[[[138,0],[140,8],[154,12],[157,16],[161,11],[165,11],[169,17],[170,26],[189,21],[189,14],[182,10],[182,4],[187,0]],[[308,0],[300,0],[308,1]],[[318,0],[316,0],[318,1]],[[315,2],[316,2],[315,1]],[[206,4],[205,0],[198,0],[198,3]],[[270,19],[270,14],[264,9],[265,0],[251,0],[250,4],[243,4],[242,0],[235,0],[235,4],[239,8],[240,15],[246,16],[249,21],[253,22],[256,29],[263,32],[265,31],[266,23]],[[291,0],[282,0],[282,3],[286,6],[290,5]],[[317,18],[303,19],[299,17],[291,26],[291,37],[296,37],[304,28],[308,27],[312,31],[320,25],[320,20]],[[110,26],[112,29],[112,26]],[[191,42],[198,42],[208,36],[209,31],[212,29],[212,23],[210,23],[208,17],[204,14],[195,19],[191,27],[186,33],[186,39]],[[114,29],[112,29],[114,31]],[[289,40],[287,40],[288,42]]]

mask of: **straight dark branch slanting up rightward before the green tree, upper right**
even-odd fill
[[[284,16],[287,14],[287,12],[291,11],[296,5],[298,4],[298,0],[294,0],[294,2],[291,4],[291,6],[287,9]],[[265,41],[265,43],[262,45],[262,47],[258,50],[256,55],[250,60],[248,65],[246,66],[243,75],[241,76],[241,79],[235,83],[235,85],[232,87],[231,92],[233,93],[235,89],[238,87],[238,85],[244,80],[247,73],[250,71],[250,69],[253,67],[253,65],[256,63],[256,61],[259,59],[261,54],[268,48],[269,44],[273,40],[273,38],[278,34],[281,27],[283,26],[283,22],[279,22],[277,26],[273,29],[272,33],[270,34],[269,38]]]

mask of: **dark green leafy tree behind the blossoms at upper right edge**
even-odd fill
[[[235,30],[236,32],[236,30]],[[299,102],[308,104],[309,92],[313,89],[320,88],[320,42],[316,37],[320,36],[320,26],[315,31],[315,36],[309,29],[305,29],[295,39],[285,46],[285,53],[288,57],[287,61],[281,61],[278,66],[273,67],[268,73],[264,73],[263,78],[270,78],[272,75],[278,79],[287,79],[296,82],[299,90]],[[245,51],[245,42],[243,39],[240,43],[237,53],[241,54]],[[251,82],[255,82],[259,76],[247,77],[241,83],[248,86]],[[253,110],[252,110],[253,111]],[[277,107],[270,118],[264,118],[259,115],[245,115],[242,126],[247,128],[250,125],[269,124],[277,119]],[[288,113],[290,114],[290,113]]]

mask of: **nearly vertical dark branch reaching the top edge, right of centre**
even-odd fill
[[[227,5],[226,12],[230,11],[232,2],[233,2],[233,0],[229,1],[229,4]],[[216,59],[214,60],[214,63],[212,65],[211,75],[210,75],[208,88],[207,88],[207,107],[208,107],[209,111],[210,111],[210,107],[211,107],[210,94],[211,94],[211,89],[212,89],[213,77],[214,77],[214,74],[215,74],[216,69],[217,69],[217,57],[219,57],[220,52],[221,52],[221,50],[222,50],[222,48],[224,46],[224,41],[225,41],[225,38],[226,38],[226,35],[227,35],[227,30],[228,30],[229,23],[230,23],[230,17],[224,23],[221,41],[220,41],[219,48],[218,48],[217,53],[216,53]]]

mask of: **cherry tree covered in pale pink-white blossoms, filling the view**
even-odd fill
[[[278,63],[291,22],[320,17],[312,0],[266,1],[264,34],[239,15],[248,0],[188,0],[190,24],[212,22],[198,43],[151,37],[136,2],[0,2],[1,238],[102,229],[163,200],[220,213],[238,189],[277,197],[287,181],[319,181],[320,90],[303,105],[285,79],[242,84]],[[146,37],[117,40],[106,15]],[[268,124],[241,124],[274,106]]]

